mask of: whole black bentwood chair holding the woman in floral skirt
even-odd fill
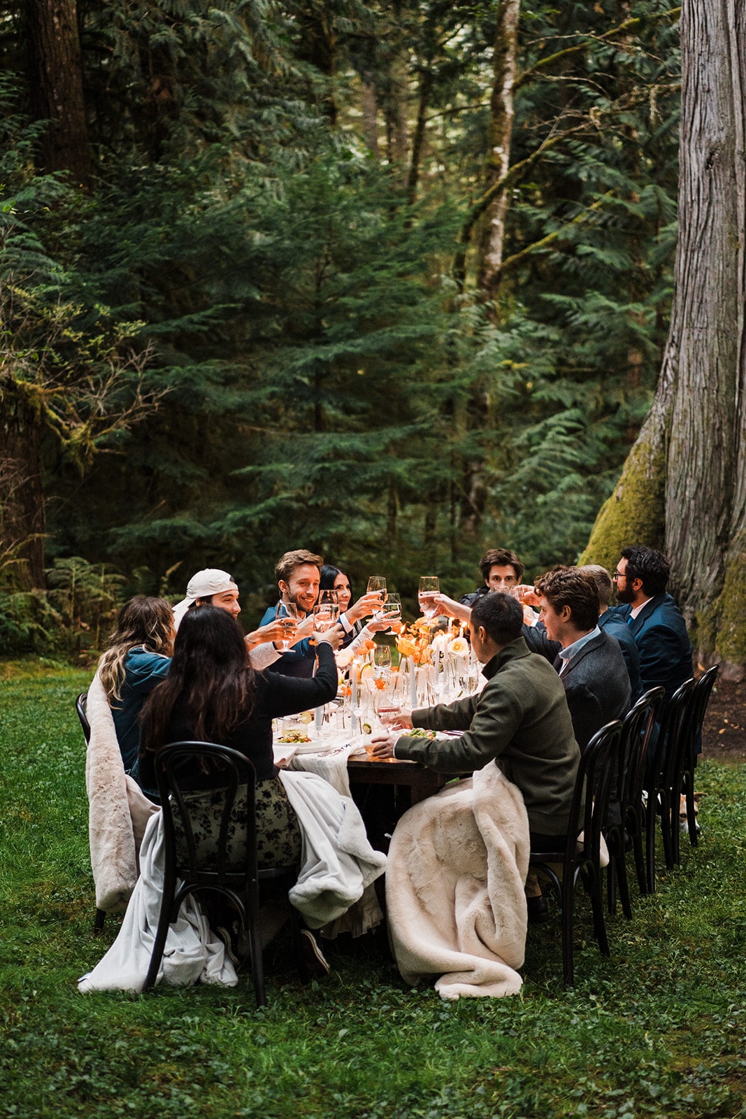
[[[197,788],[195,772],[211,774],[219,788],[206,790],[202,781]],[[229,899],[237,910],[248,934],[256,1004],[266,1006],[259,940],[259,882],[284,877],[290,888],[298,876],[298,867],[257,868],[254,767],[244,754],[228,746],[210,742],[172,742],[158,751],[155,777],[163,814],[166,867],[158,929],[143,990],[155,982],[169,925],[177,920],[181,902],[189,894],[211,892]],[[199,794],[204,805],[205,793],[221,794],[216,798],[217,807],[213,808],[217,834],[209,852],[200,850],[190,812],[190,805],[196,803],[190,794]],[[200,809],[193,810],[198,816]],[[246,854],[244,857],[242,853],[240,863],[232,863],[229,831],[238,827],[243,839],[244,821]],[[181,885],[177,888],[178,880]],[[299,970],[304,977],[298,915],[292,906],[291,911]]]

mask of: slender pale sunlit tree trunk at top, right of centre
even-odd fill
[[[500,179],[504,179],[510,164],[519,15],[520,0],[500,0],[494,36],[494,77],[490,100],[485,190]],[[484,215],[479,244],[476,283],[484,298],[490,301],[497,298],[500,284],[507,213],[508,192],[501,190],[494,196]]]

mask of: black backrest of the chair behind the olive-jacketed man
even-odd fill
[[[580,754],[567,829],[564,875],[574,874],[584,863],[597,862],[601,834],[608,814],[612,777],[618,765],[621,744],[622,722],[616,718],[596,731]],[[578,853],[572,837],[580,831],[583,848]]]

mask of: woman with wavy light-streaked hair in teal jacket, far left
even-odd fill
[[[98,661],[125,773],[138,760],[142,706],[171,666],[173,634],[170,603],[140,594],[120,610],[110,647]]]

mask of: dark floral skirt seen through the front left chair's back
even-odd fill
[[[239,794],[245,789],[239,786]],[[220,830],[219,789],[189,792],[185,796],[189,807],[197,858],[208,862],[217,854]],[[183,827],[178,812],[173,812],[177,853],[186,853]],[[256,856],[259,868],[293,866],[301,861],[301,829],[290,806],[287,793],[278,778],[256,782]],[[243,869],[246,864],[246,817],[243,807],[234,806],[228,825],[228,869]]]

